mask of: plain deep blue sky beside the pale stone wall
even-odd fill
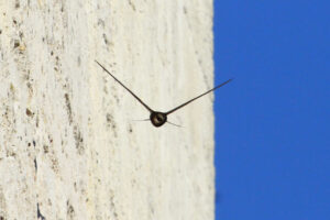
[[[330,219],[329,14],[215,0],[217,220]]]

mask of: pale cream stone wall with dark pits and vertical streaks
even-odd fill
[[[0,0],[0,219],[213,218],[211,0]]]

